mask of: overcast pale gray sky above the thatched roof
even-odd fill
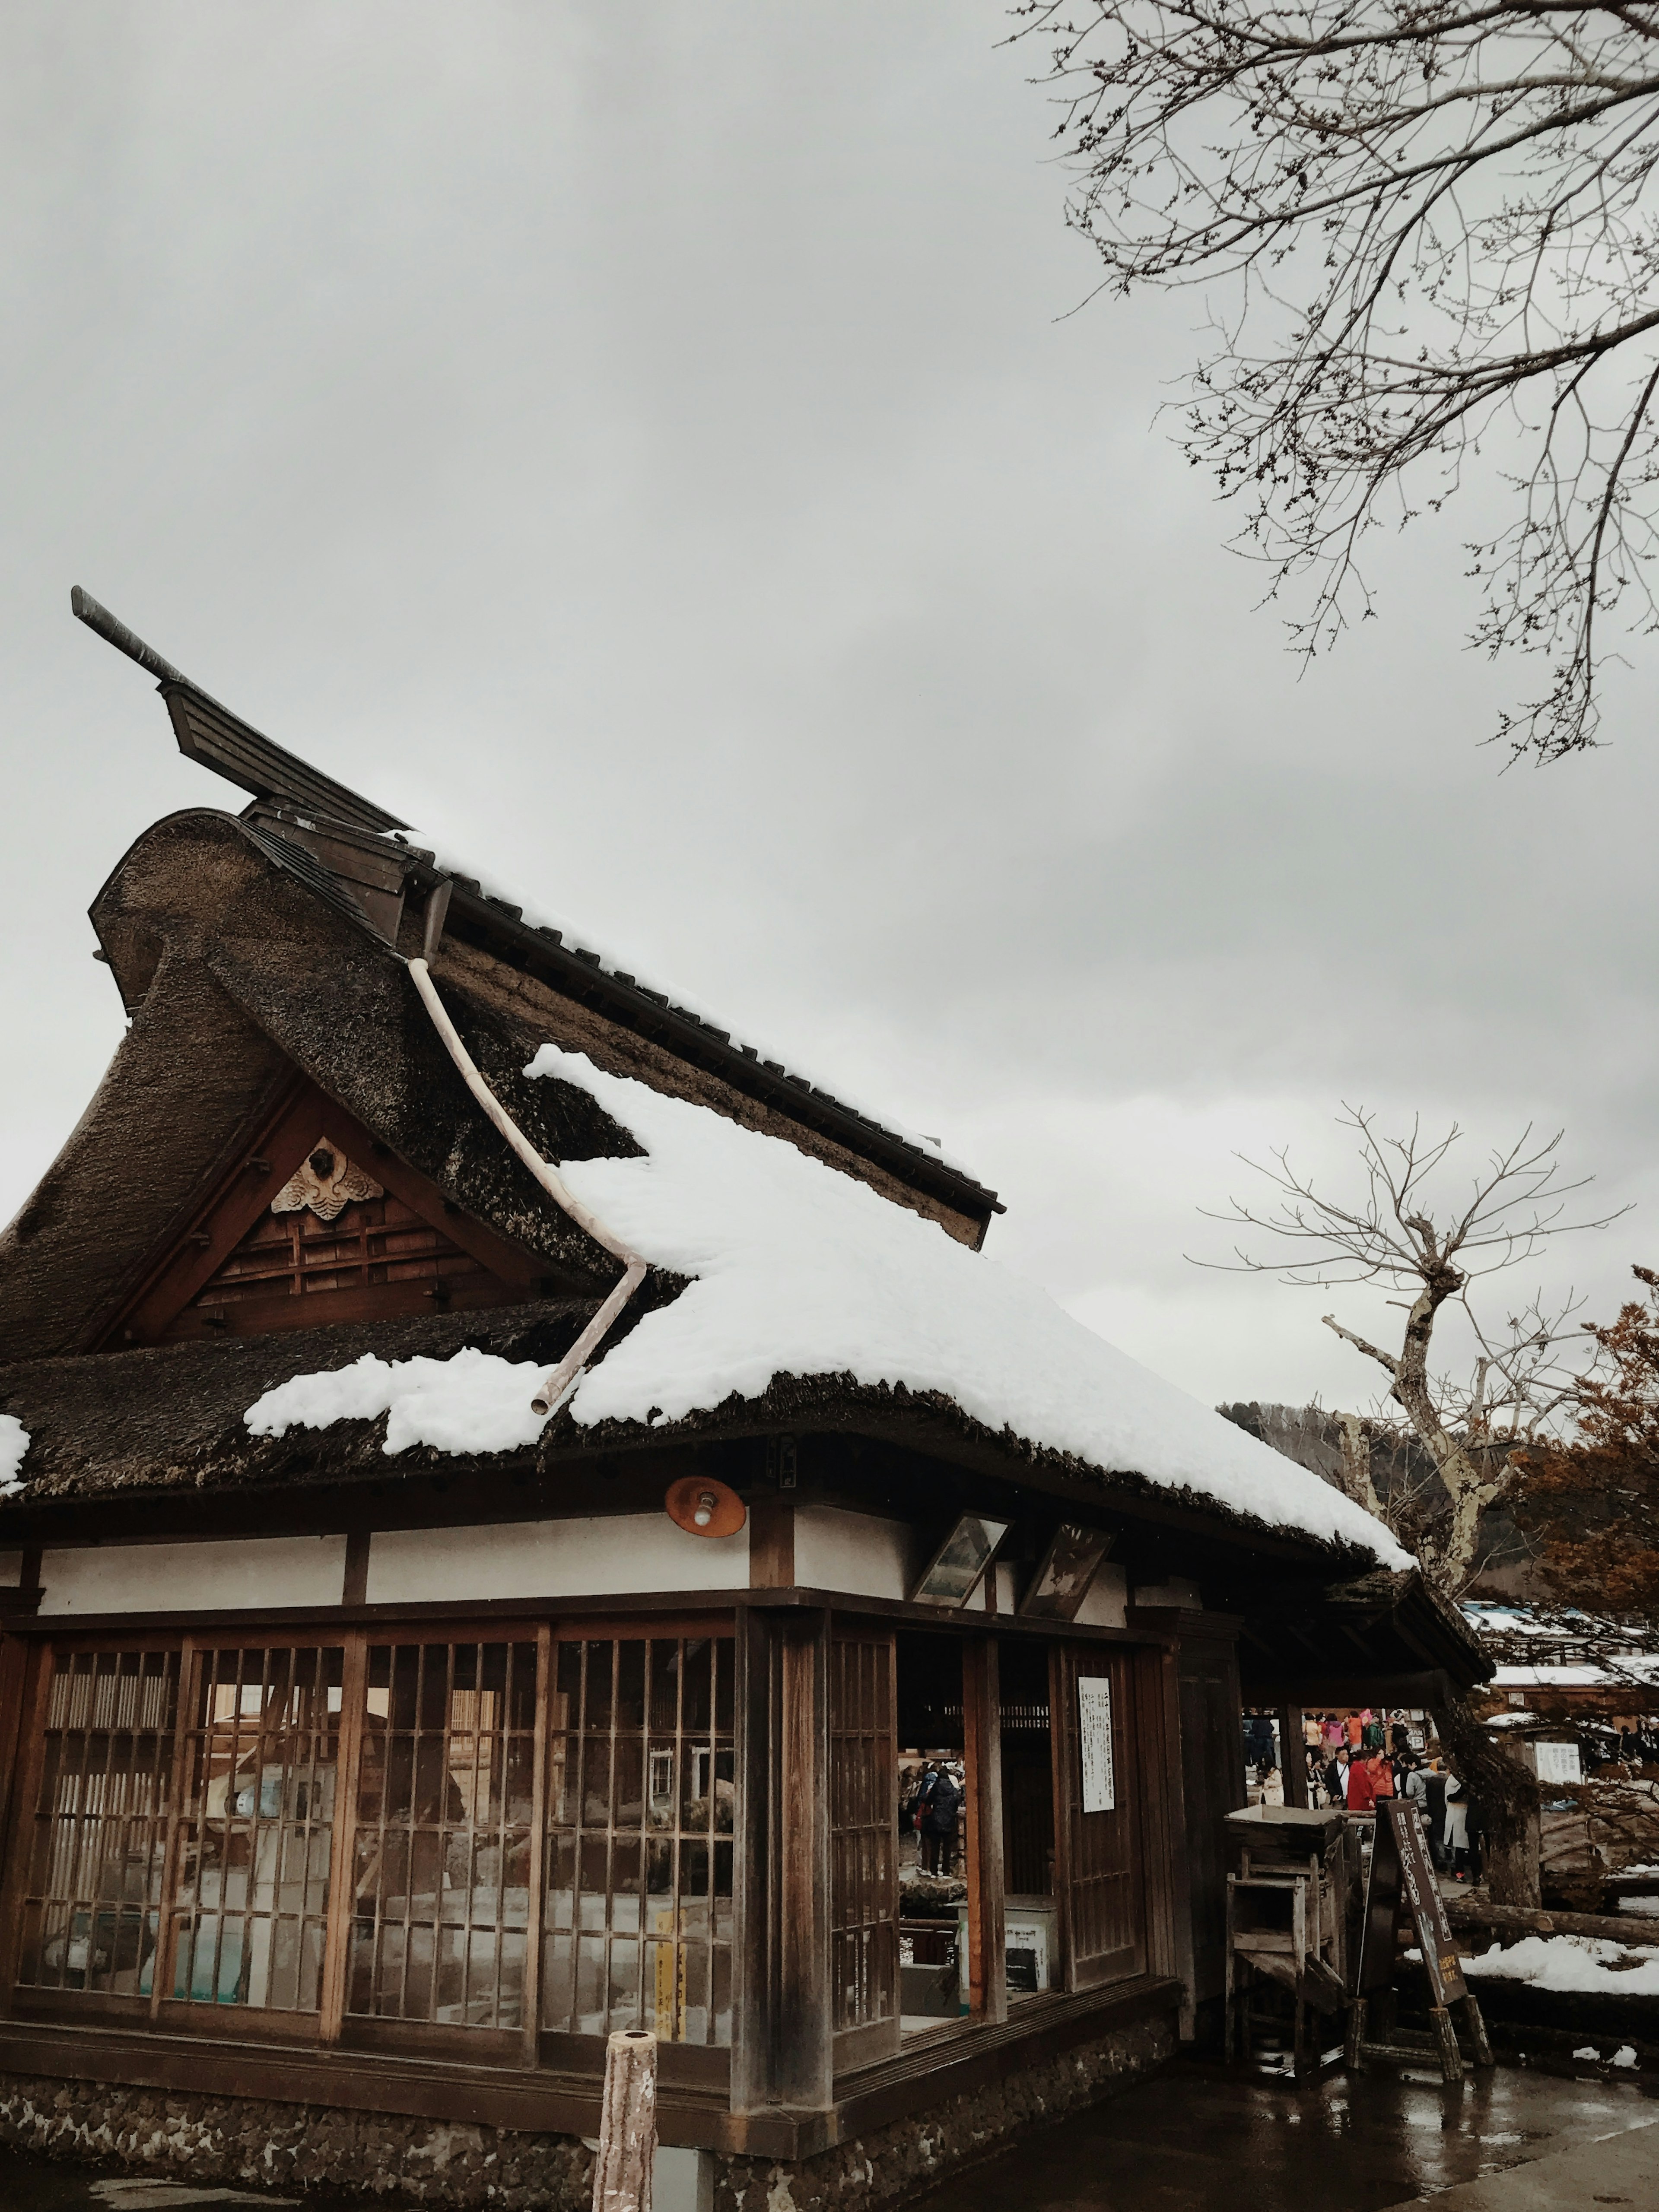
[[[1068,310],[984,0],[0,13],[0,1217],[119,1037],[84,918],[237,805],[86,584],[296,752],[938,1133],[991,1250],[1203,1398],[1369,1396],[1206,1274],[1338,1099],[1566,1124],[1659,1261],[1655,653],[1500,774],[1458,529],[1298,677],[1155,425],[1203,301]],[[1469,522],[1473,535],[1475,520]],[[1517,1290],[1531,1290],[1531,1281]],[[1502,1303],[1500,1292],[1493,1303]],[[1349,1294],[1356,1325],[1389,1327]]]

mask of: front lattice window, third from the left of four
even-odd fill
[[[372,1644],[347,2013],[524,2017],[535,1644]]]

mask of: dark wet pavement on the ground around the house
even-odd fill
[[[1409,2068],[1294,2088],[1194,2062],[956,2174],[916,2212],[1383,2212],[1425,2199],[1442,2212],[1659,2212],[1659,2099],[1511,2066],[1462,2088]],[[296,2199],[0,2150],[0,2212],[281,2203]],[[330,2212],[367,2205],[330,2199]]]

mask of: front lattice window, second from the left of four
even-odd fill
[[[341,1646],[197,1655],[173,1856],[173,1997],[319,2008],[343,1661]]]

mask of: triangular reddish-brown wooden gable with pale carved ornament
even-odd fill
[[[520,1305],[544,1270],[301,1084],[100,1349]]]

